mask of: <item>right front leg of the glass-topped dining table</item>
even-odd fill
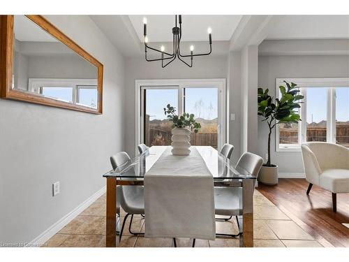
[[[240,247],[253,247],[253,191],[255,180],[242,180],[242,221],[239,221],[242,238]]]

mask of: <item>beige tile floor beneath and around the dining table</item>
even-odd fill
[[[254,196],[255,247],[322,247],[311,235],[287,217],[279,208],[255,190]],[[125,213],[121,212],[121,217]],[[129,221],[129,219],[128,219]],[[128,228],[126,223],[125,228]],[[133,231],[144,231],[144,219],[133,219]],[[237,232],[235,219],[217,221],[218,233]],[[134,236],[126,229],[121,247],[173,247],[171,239]],[[48,240],[43,247],[105,247],[105,195],[98,198],[73,221]],[[177,239],[177,247],[191,247],[191,240]],[[238,239],[217,238],[197,240],[195,247],[239,247]]]

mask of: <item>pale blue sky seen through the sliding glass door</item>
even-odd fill
[[[178,110],[177,89],[147,89],[147,114],[150,120],[167,118],[163,108],[170,103]],[[186,112],[196,117],[217,117],[218,90],[216,88],[186,88]],[[178,111],[177,111],[178,112]]]

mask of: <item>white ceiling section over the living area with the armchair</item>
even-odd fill
[[[349,38],[349,15],[276,15],[267,39]]]

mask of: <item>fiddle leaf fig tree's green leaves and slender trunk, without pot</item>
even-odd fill
[[[268,161],[265,166],[274,166],[270,157],[270,137],[272,130],[276,124],[297,124],[301,121],[297,109],[300,108],[300,103],[304,96],[300,95],[299,87],[297,84],[291,82],[285,82],[285,86],[279,87],[281,93],[281,99],[274,99],[273,96],[268,94],[269,89],[263,90],[258,88],[258,115],[263,119],[262,121],[267,122],[269,126],[268,134]]]

